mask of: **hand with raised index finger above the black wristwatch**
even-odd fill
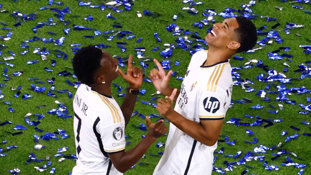
[[[128,70],[127,74],[123,73],[121,69],[118,69],[122,78],[128,82],[129,87],[134,90],[138,90],[142,85],[142,70],[139,67],[132,67],[132,55],[128,58]]]

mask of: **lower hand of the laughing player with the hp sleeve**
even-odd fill
[[[165,99],[158,99],[156,109],[160,112],[161,116],[167,118],[169,114],[174,112],[173,101],[176,93],[177,89],[174,89],[170,96],[165,96]]]

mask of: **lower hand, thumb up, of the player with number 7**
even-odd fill
[[[146,125],[149,129],[148,134],[154,139],[157,139],[165,134],[167,127],[163,123],[164,120],[159,120],[156,123],[151,123],[148,116],[146,116]]]

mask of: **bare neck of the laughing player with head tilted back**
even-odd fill
[[[207,60],[204,62],[203,66],[211,66],[221,61],[227,61],[232,55],[233,54],[227,50],[210,47],[207,52]]]

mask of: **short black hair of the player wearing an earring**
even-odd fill
[[[100,67],[102,51],[94,45],[83,47],[73,57],[72,66],[78,80],[84,84],[94,83],[94,73]]]

